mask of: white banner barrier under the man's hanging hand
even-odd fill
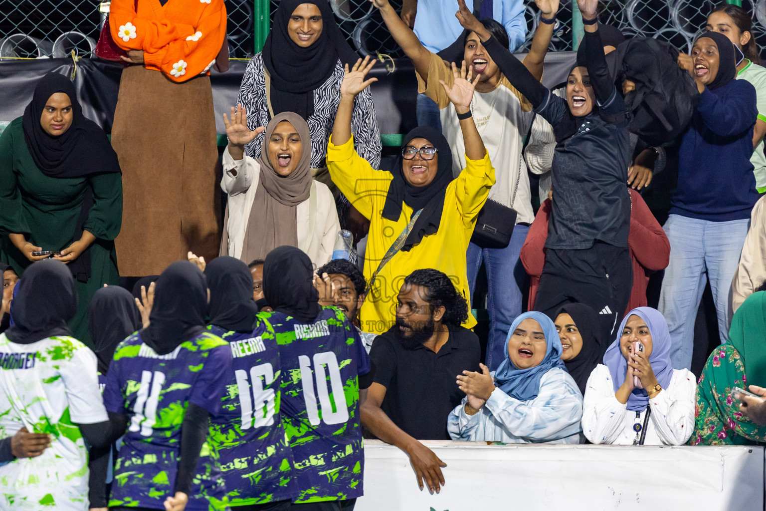
[[[355,511],[764,509],[763,447],[424,444],[447,464],[439,494],[417,487],[404,452],[365,441]]]

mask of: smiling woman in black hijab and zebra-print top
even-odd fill
[[[340,101],[343,66],[351,67],[358,58],[327,0],[282,0],[264,49],[247,64],[240,89],[239,102],[247,111],[251,130],[267,126],[273,116],[286,111],[306,120],[312,175],[330,185],[331,190],[325,161],[327,139]],[[260,158],[264,136],[261,133],[245,147],[247,156]],[[362,93],[354,105],[354,136],[362,156],[380,165],[380,129],[369,91]],[[228,170],[231,167],[227,166],[226,154],[224,169]],[[344,221],[341,218],[341,224]]]

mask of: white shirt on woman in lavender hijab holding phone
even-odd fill
[[[688,369],[673,369],[668,388],[649,400],[652,410],[644,445],[683,445],[694,431],[696,378]],[[609,368],[599,364],[588,378],[582,412],[582,431],[593,444],[633,445],[634,424],[641,424],[647,411],[627,409],[614,397]]]

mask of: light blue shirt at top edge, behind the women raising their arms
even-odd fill
[[[473,2],[466,2],[469,8]],[[444,50],[463,34],[460,21],[455,18],[457,0],[417,0],[414,32],[421,43],[434,53]],[[492,17],[508,31],[509,50],[524,44],[527,26],[522,0],[494,0]]]

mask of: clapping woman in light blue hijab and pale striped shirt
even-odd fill
[[[506,359],[496,372],[463,371],[466,393],[450,412],[453,440],[506,444],[578,444],[582,395],[561,360],[561,339],[543,313],[517,317],[508,332]]]

